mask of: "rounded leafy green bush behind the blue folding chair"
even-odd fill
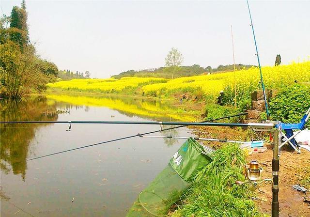
[[[269,103],[272,120],[299,123],[310,107],[310,86],[295,84],[283,88]]]

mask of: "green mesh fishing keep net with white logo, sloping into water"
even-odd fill
[[[140,192],[126,217],[164,217],[171,205],[180,200],[197,172],[211,158],[194,139],[189,138],[171,157],[166,168]]]

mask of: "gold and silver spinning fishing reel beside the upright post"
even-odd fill
[[[237,185],[248,184],[248,189],[250,191],[255,191],[265,182],[270,182],[272,184],[272,179],[262,180],[263,169],[258,167],[258,162],[256,160],[251,160],[249,164],[245,164],[242,167],[244,168],[246,181],[236,181]]]

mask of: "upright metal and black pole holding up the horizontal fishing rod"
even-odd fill
[[[271,216],[279,217],[279,129],[276,128],[273,130],[273,159],[272,159],[272,203],[271,203]]]

